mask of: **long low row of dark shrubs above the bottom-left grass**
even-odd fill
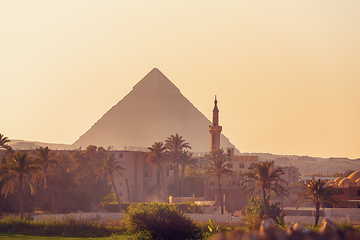
[[[105,225],[89,221],[66,219],[62,222],[34,222],[6,217],[0,220],[0,232],[37,236],[106,237],[122,233],[119,225]]]

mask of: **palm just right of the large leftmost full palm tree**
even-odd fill
[[[51,184],[51,178],[58,173],[56,154],[48,147],[39,147],[35,151],[35,156],[36,158],[34,163],[38,167],[38,170],[33,174],[32,181],[34,182],[35,186],[38,184],[43,184],[44,189],[49,189],[52,211],[55,212],[55,198]]]

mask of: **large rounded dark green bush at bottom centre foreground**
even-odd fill
[[[171,204],[136,204],[129,206],[127,233],[135,239],[199,239],[202,233],[195,223]]]

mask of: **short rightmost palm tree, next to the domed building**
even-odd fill
[[[298,193],[296,198],[296,208],[298,208],[305,200],[310,200],[315,204],[315,226],[319,223],[320,205],[330,204],[332,206],[338,204],[337,192],[333,186],[325,186],[327,180],[316,180],[314,177],[308,183],[303,185],[303,189]]]

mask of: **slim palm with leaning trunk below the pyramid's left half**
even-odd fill
[[[102,166],[97,170],[97,177],[108,177],[111,181],[111,184],[114,188],[116,198],[119,205],[119,212],[121,212],[121,202],[118,191],[116,189],[114,178],[119,178],[120,172],[123,171],[124,168],[120,166],[120,163],[116,161],[114,155],[107,155],[103,160]]]

